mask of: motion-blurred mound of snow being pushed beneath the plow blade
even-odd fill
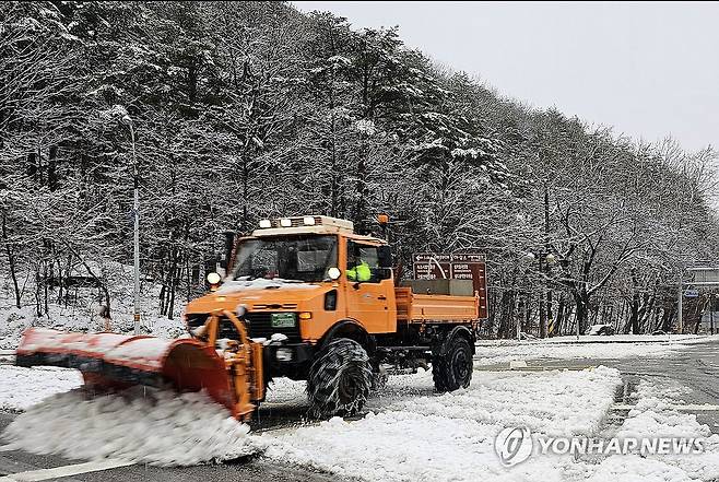
[[[17,416],[2,438],[33,454],[168,467],[256,454],[261,446],[248,432],[204,393],[134,387],[96,398],[56,395]]]

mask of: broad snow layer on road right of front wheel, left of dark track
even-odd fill
[[[511,469],[494,452],[505,426],[526,425],[563,435],[598,430],[611,405],[618,372],[475,374],[465,390],[432,395],[432,375],[391,377],[372,412],[334,418],[293,433],[266,433],[266,455],[361,480],[559,481],[568,458],[532,457]],[[411,389],[408,389],[411,387]],[[375,403],[382,403],[377,408]]]

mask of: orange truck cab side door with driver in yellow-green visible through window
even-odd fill
[[[370,333],[396,331],[397,306],[390,271],[380,267],[377,246],[347,239],[346,316]]]

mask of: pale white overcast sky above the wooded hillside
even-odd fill
[[[719,148],[719,3],[293,4],[354,28],[399,25],[409,46],[530,105]]]

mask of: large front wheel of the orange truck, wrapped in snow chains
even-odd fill
[[[370,387],[367,352],[356,341],[339,338],[318,353],[309,368],[309,412],[318,418],[353,415],[364,405]]]

